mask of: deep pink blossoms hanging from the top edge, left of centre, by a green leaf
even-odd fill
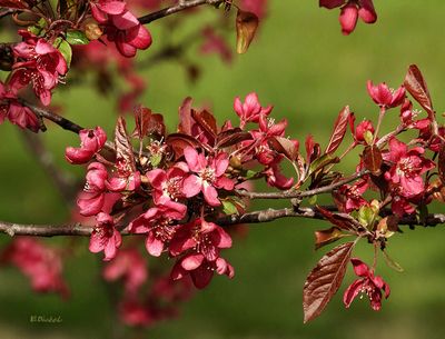
[[[108,40],[116,43],[123,57],[135,57],[138,49],[150,47],[150,32],[127,9],[126,1],[95,0],[90,6],[93,18],[105,27]]]

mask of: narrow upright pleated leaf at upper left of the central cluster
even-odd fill
[[[126,173],[136,172],[136,162],[135,156],[132,153],[132,146],[130,142],[130,138],[127,133],[126,121],[122,117],[119,117],[116,123],[115,148],[118,170],[121,170]]]

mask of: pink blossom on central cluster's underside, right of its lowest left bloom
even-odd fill
[[[186,216],[185,205],[176,203],[174,207],[177,209],[172,209],[171,205],[150,208],[128,227],[130,232],[147,235],[146,249],[154,257],[159,257],[172,239],[178,227],[174,220],[180,220]]]

